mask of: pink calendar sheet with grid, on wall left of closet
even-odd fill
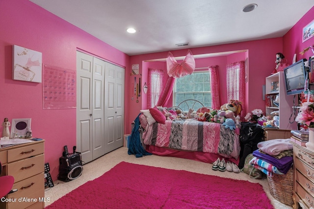
[[[43,108],[76,108],[76,71],[44,65]]]

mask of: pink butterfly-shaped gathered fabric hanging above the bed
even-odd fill
[[[193,73],[195,69],[195,60],[192,52],[187,51],[182,63],[178,63],[171,52],[167,56],[167,72],[169,77],[181,78]]]

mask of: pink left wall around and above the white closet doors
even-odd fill
[[[12,45],[42,52],[43,64],[72,70],[77,49],[127,67],[126,75],[130,57],[28,0],[1,0],[0,28],[0,120],[32,119],[33,136],[46,140],[45,162],[55,180],[63,146],[72,151],[76,145],[76,109],[43,110],[42,83],[12,80]]]

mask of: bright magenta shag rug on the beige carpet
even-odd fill
[[[79,178],[74,181],[79,181]],[[61,208],[273,209],[274,207],[259,183],[121,162],[103,176],[79,186],[46,207],[46,209]]]

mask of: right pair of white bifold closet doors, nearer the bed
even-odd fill
[[[105,67],[105,153],[123,146],[124,75],[121,67]]]

